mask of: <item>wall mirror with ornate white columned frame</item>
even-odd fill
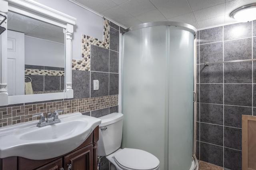
[[[73,98],[76,19],[33,0],[4,0],[0,106]]]

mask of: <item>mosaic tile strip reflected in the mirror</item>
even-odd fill
[[[43,70],[43,69],[25,69],[25,75],[65,75],[64,71]]]

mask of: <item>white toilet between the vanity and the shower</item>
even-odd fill
[[[160,162],[153,154],[140,149],[120,149],[123,118],[122,113],[98,117],[101,119],[98,156],[106,156],[112,163],[110,170],[158,170]]]

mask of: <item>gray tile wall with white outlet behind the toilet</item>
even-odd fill
[[[90,71],[72,70],[74,99],[118,95],[119,26],[110,22],[110,48],[98,45],[90,48]],[[93,80],[99,80],[99,90],[93,90]],[[118,112],[118,106],[83,113],[93,117]]]

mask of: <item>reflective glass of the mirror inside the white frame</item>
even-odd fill
[[[63,92],[63,28],[8,11],[8,94]]]

